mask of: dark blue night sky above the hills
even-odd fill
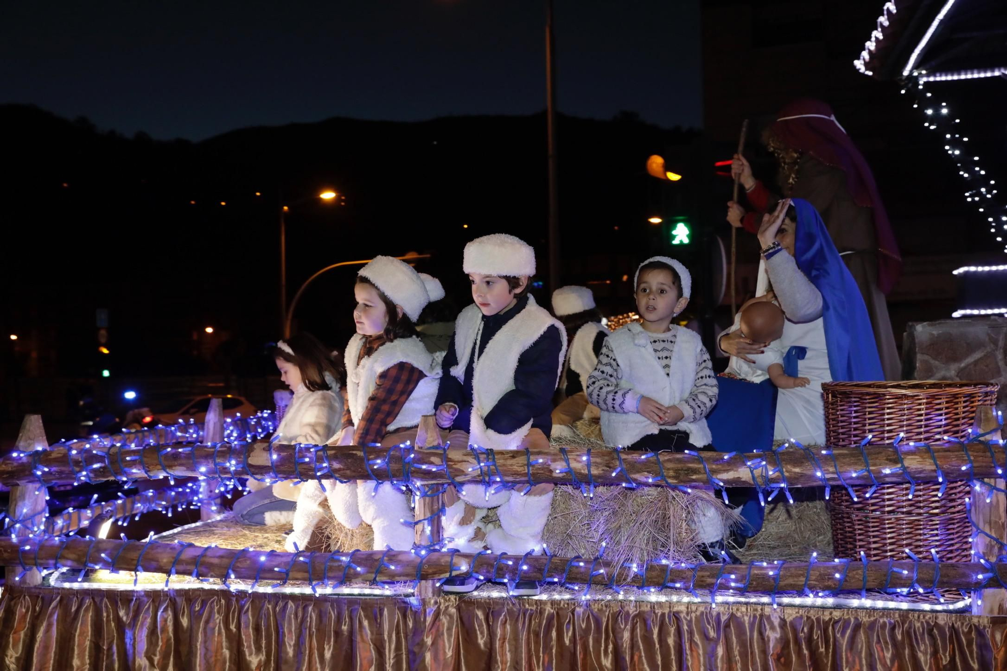
[[[559,109],[701,123],[697,0],[556,0]],[[542,0],[7,4],[0,103],[200,140],[545,106]]]

